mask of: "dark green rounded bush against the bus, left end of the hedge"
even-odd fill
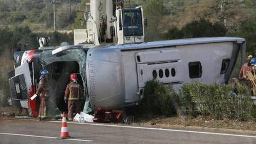
[[[171,85],[151,80],[145,85],[141,108],[148,115],[170,116],[176,113],[178,101],[178,95]]]

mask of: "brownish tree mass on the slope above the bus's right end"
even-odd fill
[[[221,22],[229,31],[236,31],[240,21],[248,18],[243,2],[239,0],[200,0],[185,4],[184,12],[180,13],[177,26],[182,28],[187,23],[205,19],[212,23]]]

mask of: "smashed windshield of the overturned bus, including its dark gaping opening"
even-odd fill
[[[69,82],[68,77],[71,73],[77,73],[80,74],[79,80],[84,88],[83,92],[86,98],[85,111],[88,112],[91,110],[86,87],[86,52],[87,49],[71,48],[54,55],[52,55],[52,51],[44,51],[40,54],[39,63],[52,75],[50,79],[50,102],[57,103],[57,106],[60,101],[64,103],[62,97],[65,92],[66,84]],[[63,104],[59,104],[58,108],[60,108],[60,110],[65,109],[65,107],[62,106]],[[55,109],[56,108],[52,108],[50,111],[55,111]]]

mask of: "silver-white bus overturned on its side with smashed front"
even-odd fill
[[[147,81],[157,79],[179,89],[197,81],[228,83],[238,53],[245,57],[245,40],[236,37],[193,38],[88,47],[67,45],[51,49],[15,52],[15,68],[9,73],[12,99],[36,117],[38,98],[30,100],[39,73],[50,73],[50,105],[65,111],[66,85],[71,73],[78,74],[86,97],[84,112],[99,106],[123,108],[143,99]],[[54,111],[53,110],[53,111]]]

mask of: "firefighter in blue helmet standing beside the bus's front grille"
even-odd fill
[[[49,98],[49,85],[48,85],[49,72],[44,69],[41,72],[39,78],[39,84],[36,91],[36,95],[40,96],[40,107],[39,107],[39,121],[46,119],[46,105]]]

